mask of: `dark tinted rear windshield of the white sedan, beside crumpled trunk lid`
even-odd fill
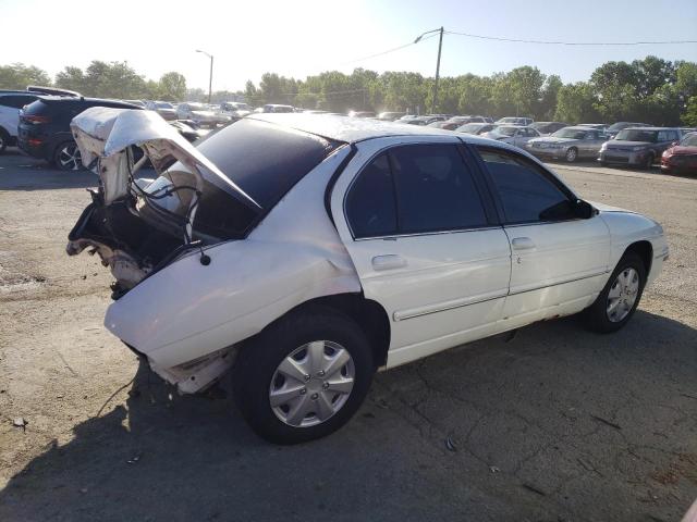
[[[210,135],[196,148],[262,209],[269,210],[339,145],[244,119]]]

